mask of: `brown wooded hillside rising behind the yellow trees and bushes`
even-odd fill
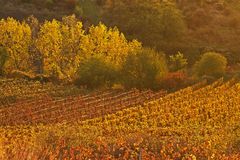
[[[137,38],[146,46],[165,51],[167,54],[181,51],[192,64],[201,53],[209,50],[223,53],[230,63],[238,62],[239,1],[171,1],[183,16],[186,29],[180,38],[176,38],[173,32],[174,38],[169,40],[159,38],[161,33],[158,29],[159,25],[156,24],[158,17],[151,13],[157,9],[156,3],[161,2],[162,0],[135,0],[131,3],[125,0],[1,0],[0,18],[12,16],[24,19],[29,15],[34,15],[43,21],[76,14],[85,22],[85,26],[103,21],[109,26],[117,26],[129,39]],[[149,15],[151,18],[147,21],[153,19],[156,23],[147,23],[144,21],[146,17],[141,19],[141,15]],[[136,21],[131,21],[132,19]]]

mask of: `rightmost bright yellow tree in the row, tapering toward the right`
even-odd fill
[[[121,66],[128,54],[136,53],[141,48],[138,41],[128,41],[116,27],[108,29],[102,23],[90,27],[81,45],[85,57],[103,56],[116,67]]]

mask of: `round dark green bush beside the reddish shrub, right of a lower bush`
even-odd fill
[[[143,49],[129,55],[122,67],[122,82],[126,88],[157,89],[157,81],[167,73],[167,64],[162,54],[152,49]]]

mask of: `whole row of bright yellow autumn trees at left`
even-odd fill
[[[102,56],[106,62],[119,67],[128,54],[141,48],[138,41],[128,41],[117,28],[107,28],[102,23],[86,31],[75,16],[64,17],[62,21],[45,21],[34,27],[25,21],[2,19],[0,45],[9,54],[4,67],[6,72],[14,69],[34,72],[31,68],[41,65],[38,68],[42,68],[43,74],[69,80],[80,62],[88,58]],[[40,54],[41,63],[30,59],[32,48]]]

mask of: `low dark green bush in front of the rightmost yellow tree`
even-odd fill
[[[75,84],[90,89],[110,87],[116,77],[117,72],[113,66],[104,62],[102,58],[92,57],[80,64]]]

